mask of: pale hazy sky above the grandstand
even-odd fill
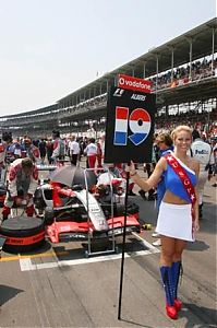
[[[217,0],[0,0],[0,116],[38,109],[216,16]]]

